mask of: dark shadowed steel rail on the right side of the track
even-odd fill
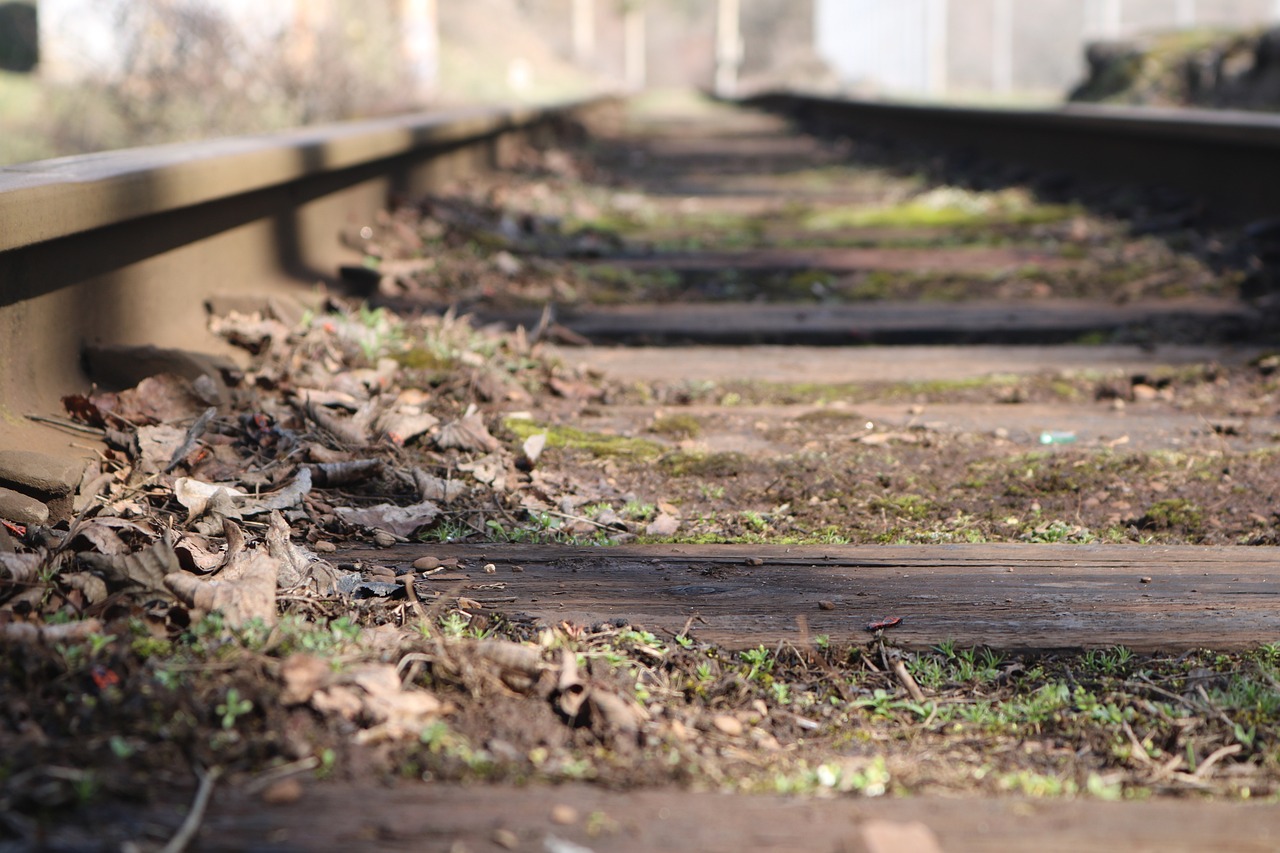
[[[778,92],[742,102],[818,133],[902,138],[1057,174],[1167,187],[1228,220],[1280,214],[1280,115],[1094,105],[932,106]]]

